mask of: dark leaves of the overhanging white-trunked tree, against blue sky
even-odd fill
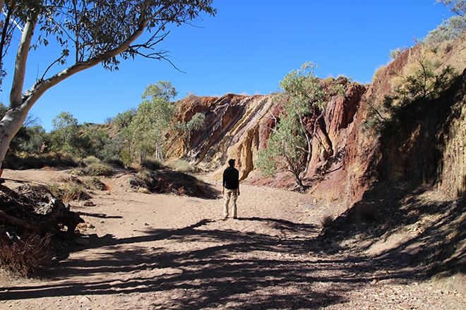
[[[211,7],[212,0],[183,0],[167,4],[166,1],[147,0],[5,2],[6,18],[1,23],[2,58],[10,46],[15,28],[24,29],[22,25],[30,22],[31,15],[37,15],[41,32],[34,49],[53,42],[61,46],[60,55],[47,70],[56,64],[64,65],[69,59],[76,64],[96,60],[108,70],[118,70],[121,59],[136,56],[167,60],[167,51],[154,51],[153,46],[169,35],[169,25],[189,23],[202,12],[213,16],[216,13]],[[131,45],[143,31],[151,32],[146,41]],[[126,48],[122,49],[122,46]]]

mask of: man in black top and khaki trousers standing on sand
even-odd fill
[[[228,218],[228,205],[230,199],[233,202],[233,218],[237,217],[237,198],[239,196],[239,171],[234,168],[234,159],[228,161],[229,167],[223,171],[222,195],[223,195],[223,216]],[[226,189],[226,190],[225,190]]]

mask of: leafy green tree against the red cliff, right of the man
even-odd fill
[[[282,92],[275,95],[280,113],[271,118],[275,123],[267,147],[258,152],[256,166],[264,175],[280,171],[291,173],[299,188],[311,161],[312,140],[323,116],[328,98],[342,94],[342,85],[327,90],[313,72],[313,63],[304,63],[300,70],[288,73],[280,82]],[[310,118],[311,126],[305,123]]]

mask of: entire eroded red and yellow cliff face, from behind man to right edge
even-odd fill
[[[457,70],[465,68],[464,44],[463,40],[444,56],[445,61],[455,61]],[[418,56],[418,47],[405,51],[378,71],[372,85],[345,82],[345,97],[330,99],[317,128],[318,139],[313,140],[305,179],[314,197],[347,208],[377,180],[436,182],[446,194],[464,197],[464,76],[443,95],[440,110],[430,114],[424,111],[393,137],[381,137],[364,126],[370,106],[393,91],[393,73],[402,73],[418,61]],[[270,113],[277,115],[272,95],[190,96],[177,106],[177,118],[181,121],[189,120],[194,113],[205,115],[205,125],[193,133],[187,153],[188,160],[198,169],[220,180],[227,160],[234,158],[243,182],[292,187],[292,179],[285,175],[262,178],[254,166],[257,152],[265,147],[273,127]],[[440,118],[429,117],[438,115],[438,111],[442,113]],[[313,125],[313,120],[308,125]],[[181,145],[173,144],[172,151],[175,157],[183,154]],[[429,156],[432,153],[436,155]]]

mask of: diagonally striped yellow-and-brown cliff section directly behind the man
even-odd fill
[[[216,173],[225,168],[229,158],[237,159],[241,180],[254,170],[255,158],[261,142],[267,140],[263,121],[272,107],[270,96],[195,97],[177,104],[178,120],[189,120],[194,113],[204,113],[205,125],[193,132],[188,160],[196,168]],[[181,150],[177,155],[180,155]]]

